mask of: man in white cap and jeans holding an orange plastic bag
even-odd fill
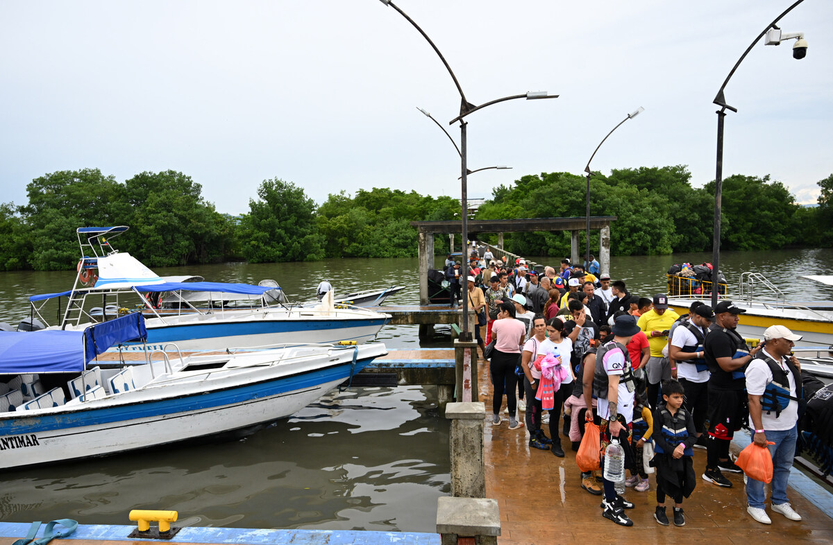
[[[802,394],[801,364],[791,355],[798,340],[801,335],[783,325],[772,325],[764,331],[763,349],[746,369],[752,442],[769,448],[772,456],[772,510],[794,521],[800,521],[801,515],[787,500],[786,486],[796,454],[798,399]],[[748,478],[746,499],[746,511],[752,518],[759,523],[772,523],[764,510],[764,483]]]

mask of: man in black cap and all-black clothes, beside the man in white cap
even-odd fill
[[[709,438],[706,450],[706,473],[703,480],[722,487],[731,481],[722,472],[742,473],[729,459],[729,443],[746,419],[746,376],[744,369],[761,345],[746,349],[746,341],[736,331],[738,315],[746,310],[731,301],[721,301],[715,308],[715,323],[703,343],[709,378]],[[679,328],[678,328],[679,329]]]

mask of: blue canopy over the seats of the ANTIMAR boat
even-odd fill
[[[80,373],[88,361],[113,344],[142,336],[147,336],[147,330],[139,313],[83,331],[0,331],[0,374]]]

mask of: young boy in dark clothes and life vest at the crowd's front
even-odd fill
[[[662,399],[654,413],[654,444],[656,455],[652,465],[656,467],[656,522],[668,526],[666,494],[674,498],[674,525],[685,526],[682,498],[694,491],[696,477],[691,457],[697,439],[691,413],[682,408],[685,390],[676,380],[662,383]]]

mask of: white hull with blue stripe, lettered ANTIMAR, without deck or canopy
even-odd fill
[[[128,392],[118,403],[97,399],[78,405],[7,413],[0,417],[0,456],[4,468],[66,462],[177,443],[286,418],[359,372],[373,358],[352,364],[340,359],[286,376],[264,369],[261,379],[242,384],[200,381],[183,394],[166,397],[157,391]],[[257,370],[254,371],[257,373]],[[252,375],[253,376],[253,375]],[[251,377],[250,377],[251,378]],[[112,399],[112,398],[111,398]],[[27,411],[28,412],[28,411]]]

